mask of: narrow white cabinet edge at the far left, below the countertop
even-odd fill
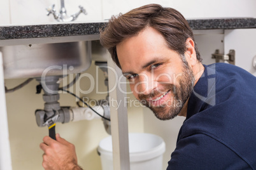
[[[6,112],[3,57],[0,52],[0,169],[11,170],[11,149]]]

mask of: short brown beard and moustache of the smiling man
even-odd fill
[[[195,77],[192,69],[187,65],[187,63],[183,63],[183,72],[181,73],[181,77],[176,86],[173,84],[164,84],[162,89],[152,91],[152,93],[148,95],[139,94],[138,98],[143,105],[152,110],[153,114],[158,119],[162,121],[173,119],[180,114],[181,109],[190,97],[194,88],[194,81]],[[167,95],[171,96],[171,98],[165,100],[164,103],[154,106],[148,102],[147,99],[152,99],[155,98],[155,96],[163,95],[163,92],[166,93],[167,91]]]

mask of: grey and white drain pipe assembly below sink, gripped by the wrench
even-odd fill
[[[100,102],[100,105],[92,107],[60,107],[58,102],[59,96],[59,79],[62,76],[46,76],[44,78],[38,77],[36,80],[43,88],[45,101],[45,107],[43,110],[36,110],[36,123],[39,127],[48,126],[49,136],[55,139],[55,124],[61,122],[62,124],[67,122],[75,122],[81,120],[99,119],[100,116],[94,113],[94,109],[98,114],[110,119],[110,107],[108,101]],[[39,92],[38,92],[39,93]],[[108,121],[110,122],[110,121]]]

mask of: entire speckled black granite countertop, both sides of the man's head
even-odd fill
[[[193,30],[256,28],[256,18],[219,18],[188,20]],[[49,23],[0,26],[0,41],[41,37],[67,37],[99,34],[107,22]]]

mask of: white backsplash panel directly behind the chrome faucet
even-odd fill
[[[10,15],[12,24],[20,23],[48,23],[56,22],[53,15],[46,16],[46,8],[55,4],[55,9],[59,13],[60,1],[57,0],[9,0]],[[79,5],[83,6],[88,15],[80,14],[77,21],[101,20],[101,0],[94,1],[64,1],[67,14],[73,15],[80,10]],[[13,10],[15,9],[15,10]]]

